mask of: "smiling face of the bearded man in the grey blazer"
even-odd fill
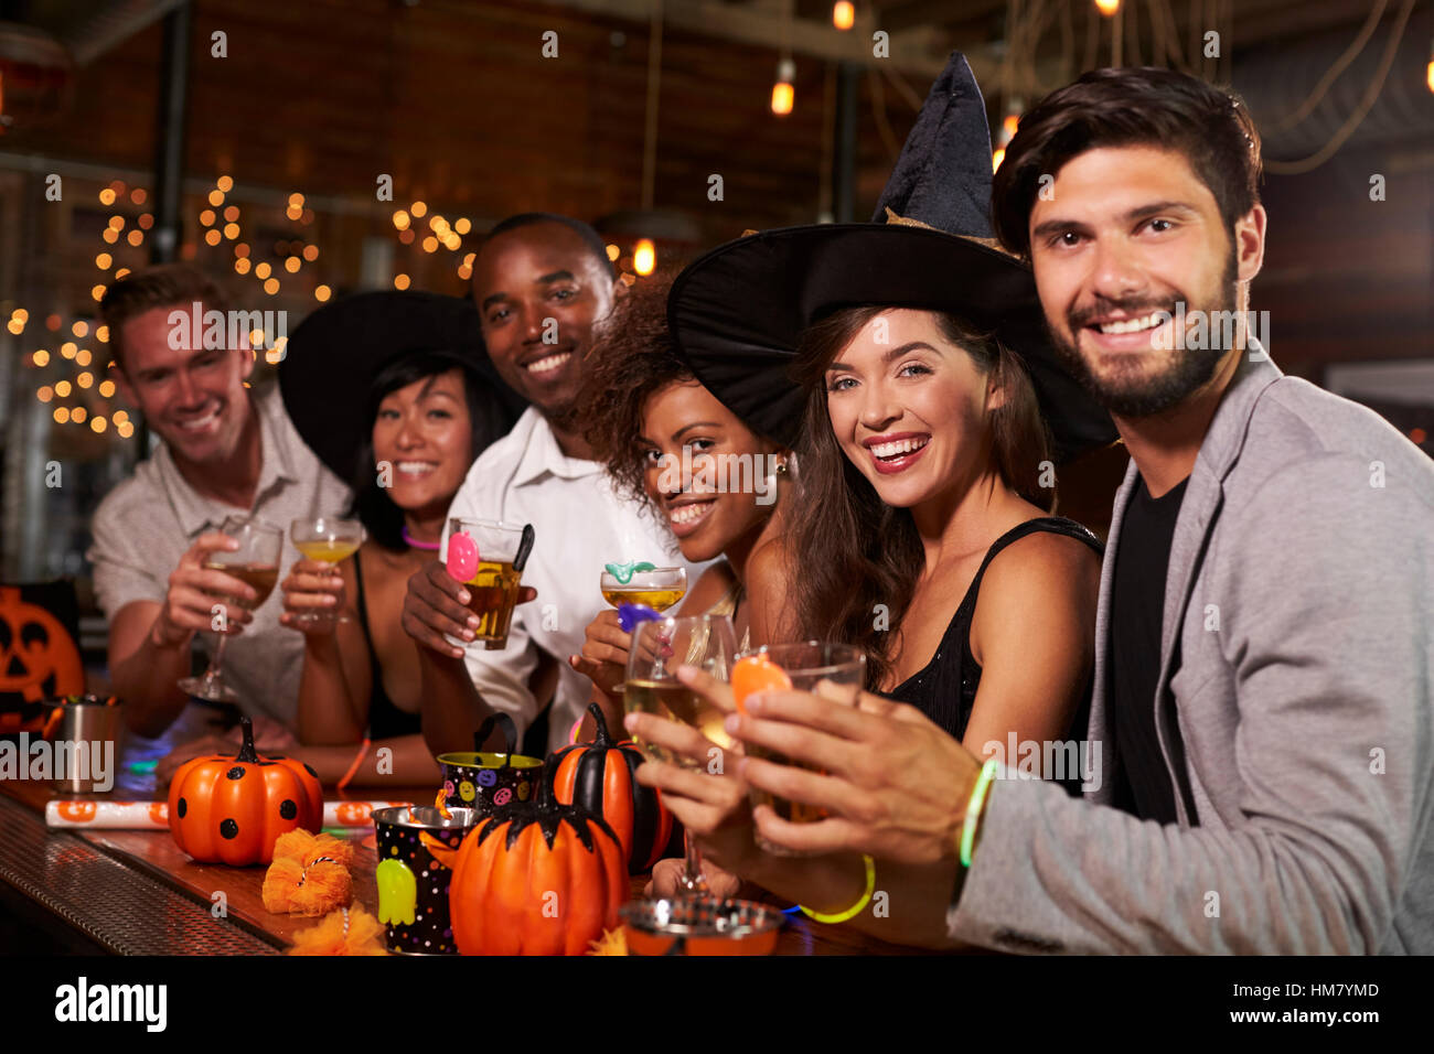
[[[1215,195],[1180,152],[1120,146],[1077,155],[1048,199],[1037,199],[1030,229],[1053,343],[1113,413],[1166,410],[1236,354],[1220,340],[1193,337],[1192,327],[1195,313],[1209,320],[1236,308],[1236,281],[1259,268],[1263,209],[1256,205],[1232,238]],[[1176,334],[1180,305],[1186,324]]]

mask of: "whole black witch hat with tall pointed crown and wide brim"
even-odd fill
[[[697,379],[757,432],[792,443],[806,400],[802,334],[843,307],[946,311],[988,330],[1031,374],[1057,462],[1116,439],[1057,360],[1030,267],[991,238],[991,132],[965,57],[936,79],[872,222],[763,231],[673,283],[668,326]]]

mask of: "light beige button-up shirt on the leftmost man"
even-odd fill
[[[284,412],[278,387],[254,396],[260,419],[262,466],[254,505],[238,509],[199,495],[179,473],[169,447],[155,453],[116,486],[95,512],[95,543],[87,554],[95,568],[95,595],[106,619],[135,601],[162,604],[169,575],[179,558],[206,531],[218,531],[227,516],[250,515],[284,532],[280,581],[298,559],[288,528],[301,516],[333,516],[348,508],[348,488],[304,446]],[[278,622],[284,609],[280,589],[254,612],[244,632],[224,652],[224,678],[251,716],[267,714],[295,726],[304,637]],[[215,635],[199,640],[212,654]]]

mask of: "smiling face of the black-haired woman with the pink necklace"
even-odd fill
[[[414,516],[443,516],[473,462],[463,371],[436,373],[379,403],[373,456],[393,465],[389,498]]]

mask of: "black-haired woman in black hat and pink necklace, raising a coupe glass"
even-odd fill
[[[284,404],[304,442],[353,482],[363,545],[338,565],[303,559],[282,582],[282,621],[305,634],[294,751],[323,782],[426,784],[439,770],[419,720],[419,657],[399,614],[433,559],[469,466],[523,400],[499,379],[466,298],[366,293],[294,331]],[[337,618],[304,618],[311,612]],[[363,746],[356,757],[356,747]],[[390,749],[380,776],[376,751]]]

